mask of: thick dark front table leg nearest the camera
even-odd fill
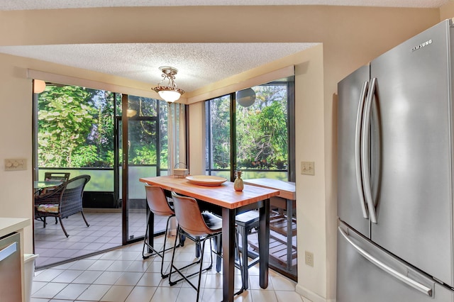
[[[235,213],[234,209],[222,208],[222,301],[233,301],[235,282]]]

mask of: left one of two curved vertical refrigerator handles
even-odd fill
[[[356,115],[355,127],[355,169],[356,169],[356,187],[358,189],[358,196],[360,197],[362,217],[369,218],[367,214],[366,204],[364,200],[364,191],[362,190],[362,176],[361,176],[361,124],[362,124],[362,111],[364,110],[364,103],[366,99],[367,88],[369,82],[362,83],[360,103],[358,104],[358,113]]]

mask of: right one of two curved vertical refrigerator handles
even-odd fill
[[[368,145],[369,133],[370,133],[370,111],[372,111],[372,101],[375,96],[375,87],[377,84],[377,78],[372,78],[370,81],[370,88],[367,92],[367,98],[364,108],[364,118],[362,118],[362,135],[361,135],[361,171],[362,171],[362,182],[364,184],[364,195],[369,209],[370,221],[377,223],[377,215],[375,213],[375,205],[372,201],[372,190],[370,188],[370,169],[369,169],[369,156],[368,156]]]

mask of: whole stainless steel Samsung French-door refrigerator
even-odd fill
[[[454,301],[450,20],[338,84],[337,302]]]

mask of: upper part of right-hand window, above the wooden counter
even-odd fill
[[[244,179],[294,180],[292,80],[252,87],[255,102],[247,107],[235,94],[206,101],[206,174],[231,179],[241,170]]]

